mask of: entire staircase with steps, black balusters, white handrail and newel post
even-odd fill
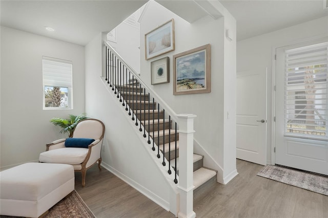
[[[156,93],[139,80],[139,76],[117,54],[113,48],[104,41],[106,54],[106,78],[105,82],[109,90],[117,97],[117,100],[125,108],[145,143],[149,144],[149,153],[155,163],[160,167],[172,189],[169,203],[170,211],[181,216],[194,216],[193,200],[199,194],[207,194],[211,191],[209,185],[216,183],[217,171],[203,166],[203,156],[192,154],[193,150],[193,119],[194,115],[176,115]],[[146,88],[146,89],[145,89]],[[147,92],[147,93],[146,93]],[[156,99],[160,102],[156,102]],[[172,117],[171,117],[172,116]],[[177,121],[181,129],[181,163],[179,164],[179,132]],[[141,147],[140,147],[141,148]],[[156,157],[157,158],[156,158]],[[191,160],[193,158],[193,172]],[[182,161],[183,160],[183,161]],[[160,164],[162,166],[160,166]],[[178,178],[179,166],[181,176]],[[183,173],[182,173],[183,172]],[[193,177],[193,183],[191,178]],[[172,181],[177,184],[175,186]],[[180,181],[180,182],[179,182]],[[194,195],[191,194],[194,192]],[[195,194],[196,193],[196,194]],[[194,199],[191,197],[194,196]],[[172,207],[172,208],[171,208]]]

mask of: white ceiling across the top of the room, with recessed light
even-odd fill
[[[237,20],[237,40],[327,16],[328,9],[323,9],[324,1],[326,0],[220,0],[221,4]],[[96,34],[112,30],[146,2],[147,0],[1,0],[1,25],[78,45],[86,45]],[[181,16],[182,14],[186,15],[188,11],[196,14],[195,8],[182,7],[183,1],[179,1],[179,4],[177,1],[167,2],[176,6],[174,12],[178,15],[179,13]],[[199,10],[198,15],[200,12],[203,11]],[[45,26],[52,27],[55,31],[48,32]]]

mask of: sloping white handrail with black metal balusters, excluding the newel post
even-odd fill
[[[132,116],[131,120],[139,127],[139,131],[141,133],[143,132],[143,136],[147,139],[148,144],[152,144],[151,149],[155,151],[157,147],[156,156],[158,159],[162,158],[162,165],[166,166],[168,162],[167,172],[171,175],[171,160],[175,159],[174,166],[176,168],[176,157],[178,157],[178,124],[176,122],[178,117],[176,113],[174,113],[172,108],[153,92],[146,83],[139,79],[134,69],[124,61],[107,41],[104,41],[104,45],[106,53],[105,80],[110,88],[112,88],[118,100],[122,102],[122,106],[125,106],[125,110]],[[155,109],[155,107],[157,107],[157,109]],[[166,121],[166,117],[169,118],[168,121]],[[160,119],[163,119],[162,123],[160,123]],[[173,125],[171,123],[173,123]],[[156,131],[154,130],[155,125],[157,125]],[[168,130],[166,130],[166,125],[169,125]],[[165,137],[166,132],[169,133],[168,139]],[[174,152],[171,153],[171,150],[173,150],[172,148]],[[166,158],[165,153],[167,150],[168,155]],[[177,184],[177,170],[173,171],[173,181]]]

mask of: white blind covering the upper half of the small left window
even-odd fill
[[[57,87],[72,87],[72,62],[43,57],[43,85]]]

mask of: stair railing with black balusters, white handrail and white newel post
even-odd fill
[[[168,167],[167,172],[172,175],[171,160],[175,160],[175,169],[173,182],[178,183],[177,176],[177,157],[179,156],[179,202],[178,208],[175,208],[178,217],[195,217],[193,211],[193,120],[196,117],[191,114],[176,115],[172,108],[163,101],[155,92],[153,92],[147,84],[139,79],[138,74],[129,66],[127,62],[104,41],[106,53],[106,78],[110,88],[116,97],[122,102],[127,113],[131,116],[131,120],[139,127],[140,133],[147,140],[148,144],[152,143],[151,149],[156,150],[157,158],[161,158],[162,165]],[[135,93],[134,93],[135,90]],[[132,91],[132,96],[131,96]],[[147,94],[148,93],[148,94]],[[152,101],[151,100],[152,96]],[[143,99],[143,100],[142,100]],[[147,100],[146,100],[147,99]],[[139,100],[139,102],[138,102]],[[155,103],[155,100],[157,103]],[[148,105],[146,106],[146,102]],[[155,107],[157,110],[155,111]],[[162,111],[160,111],[160,108]],[[147,115],[146,115],[147,114]],[[150,116],[152,115],[152,116]],[[166,130],[166,117],[168,117],[168,130]],[[159,122],[163,119],[162,129]],[[157,121],[156,121],[157,119]],[[142,122],[143,121],[143,122]],[[179,126],[177,125],[179,122]],[[156,123],[157,122],[157,123]],[[171,122],[174,125],[171,125]],[[155,132],[155,123],[157,124],[157,131]],[[152,128],[151,128],[152,124]],[[172,129],[172,127],[174,129]],[[179,127],[179,130],[177,130]],[[147,131],[147,132],[146,132]],[[161,133],[162,132],[162,133]],[[169,132],[169,137],[166,139],[166,132]],[[172,134],[173,132],[173,134]],[[179,133],[179,135],[178,135]],[[160,135],[162,134],[162,139]],[[157,137],[156,137],[157,135]],[[148,136],[148,138],[147,138]],[[179,152],[177,153],[179,139]],[[173,140],[172,140],[173,139]],[[166,147],[166,140],[168,146]],[[155,146],[156,143],[156,146]],[[160,148],[160,146],[162,147]],[[174,154],[171,153],[172,146]],[[165,157],[166,149],[168,149],[168,156]],[[161,151],[160,151],[161,150]],[[181,151],[181,152],[180,152]],[[166,166],[166,160],[168,166]]]

